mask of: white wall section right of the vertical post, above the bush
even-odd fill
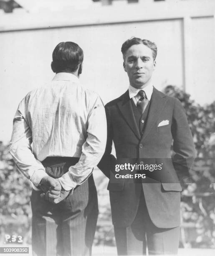
[[[215,100],[214,20],[192,19],[192,85],[189,93],[200,103]]]

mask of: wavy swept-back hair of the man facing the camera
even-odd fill
[[[147,39],[141,39],[141,38],[137,38],[137,37],[132,37],[128,40],[126,40],[122,46],[121,46],[121,52],[123,54],[123,56],[126,54],[126,51],[134,44],[144,44],[145,46],[147,46],[149,49],[152,50],[152,56],[153,59],[155,60],[156,56],[157,56],[157,46],[154,42],[151,42]]]

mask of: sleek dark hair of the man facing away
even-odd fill
[[[52,59],[53,72],[75,72],[83,62],[83,50],[76,43],[61,42],[55,47]]]

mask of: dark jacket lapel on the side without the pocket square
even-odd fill
[[[128,90],[123,95],[121,95],[121,97],[119,97],[119,102],[117,102],[117,105],[121,111],[121,114],[126,120],[126,123],[132,129],[137,138],[140,139],[141,136],[132,110],[132,102],[129,98]]]

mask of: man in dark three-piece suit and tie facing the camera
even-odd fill
[[[123,159],[162,169],[159,173],[141,170],[147,175],[140,183],[110,179],[117,252],[145,255],[147,247],[149,254],[177,254],[182,190],[179,180],[188,176],[195,158],[192,134],[180,101],[153,87],[157,46],[149,40],[131,38],[124,42],[121,52],[130,85],[105,106],[107,144],[98,166],[109,178],[116,174],[116,163]],[[172,139],[174,159],[170,155]],[[117,160],[111,155],[112,141]]]

